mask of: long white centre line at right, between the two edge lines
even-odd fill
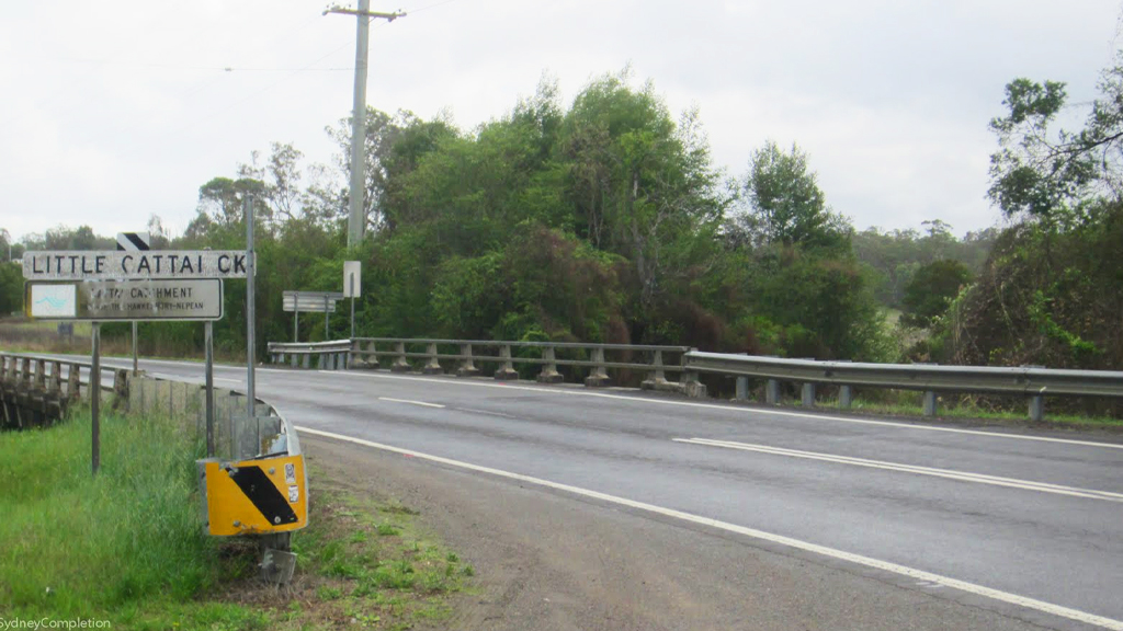
[[[1063,486],[1060,484],[1049,484],[1047,482],[1033,482],[1029,479],[1017,479],[1013,477],[1001,477],[996,475],[976,474],[970,472],[957,472],[955,469],[940,469],[935,467],[922,467],[919,465],[905,465],[902,463],[888,463],[885,460],[870,460],[868,458],[855,458],[851,456],[837,456],[833,454],[820,454],[818,451],[803,451],[800,449],[785,449],[783,447],[770,447],[768,445],[754,445],[750,442],[737,442],[732,440],[711,440],[706,438],[673,438],[675,442],[688,442],[691,445],[704,445],[706,447],[723,447],[725,449],[740,449],[742,451],[758,451],[774,456],[787,456],[792,458],[805,458],[809,460],[822,460],[827,463],[838,463],[842,465],[855,465],[875,469],[886,469],[895,472],[912,473],[917,475],[930,475],[960,482],[974,482],[977,484],[992,484],[995,486],[1008,486],[1011,488],[1023,488],[1026,491],[1038,491],[1041,493],[1056,493],[1058,495],[1071,495],[1074,497],[1087,497],[1090,500],[1104,500],[1107,502],[1123,502],[1123,493],[1111,491],[1096,491],[1092,488],[1078,488],[1075,486]]]

